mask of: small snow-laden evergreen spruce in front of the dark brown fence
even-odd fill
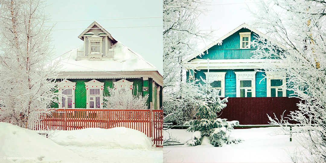
[[[212,89],[212,86],[201,78],[204,85],[200,85],[202,90],[202,102],[199,104],[196,118],[187,122],[191,125],[188,131],[193,132],[192,139],[187,141],[188,145],[200,145],[204,137],[208,137],[210,143],[215,147],[220,147],[223,144],[238,143],[241,140],[236,140],[230,137],[233,126],[239,125],[239,121],[227,121],[227,119],[217,118],[217,113],[226,107],[225,102],[228,102],[228,97],[220,99],[218,96],[219,90]]]

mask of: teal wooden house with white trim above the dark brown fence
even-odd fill
[[[257,36],[268,38],[244,23],[219,38],[185,61],[196,69],[186,72],[187,80],[202,77],[212,82],[211,86],[220,90],[222,97],[289,96],[291,92],[286,90],[285,74],[255,71],[263,71],[261,66],[265,62],[265,59],[251,59],[256,50],[252,41]],[[277,59],[269,61],[279,62]],[[267,78],[262,80],[264,76]]]

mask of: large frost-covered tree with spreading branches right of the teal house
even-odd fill
[[[326,2],[272,0],[261,1],[258,8],[254,25],[285,49],[280,52],[274,41],[259,37],[254,58],[282,61],[265,64],[264,68],[270,73],[285,72],[287,89],[303,100],[289,118],[302,126],[297,128],[301,133],[298,136],[311,154],[301,157],[305,157],[302,161],[326,162]],[[289,125],[288,121],[280,123]]]

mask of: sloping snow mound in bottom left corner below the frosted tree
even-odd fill
[[[0,162],[90,162],[35,131],[0,122]]]

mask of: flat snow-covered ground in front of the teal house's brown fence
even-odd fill
[[[235,129],[231,136],[244,141],[222,147],[214,147],[211,144],[194,147],[164,146],[163,162],[293,162],[289,154],[297,147],[301,150],[303,148],[295,136],[290,142],[289,135],[275,135],[280,129],[280,127]],[[181,129],[169,129],[164,131],[163,135],[177,137],[181,143],[185,143],[191,138],[192,133]]]

